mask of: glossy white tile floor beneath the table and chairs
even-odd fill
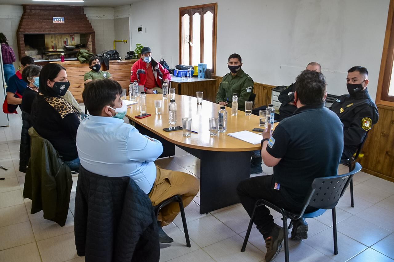
[[[74,201],[76,179],[71,193],[67,223],[59,227],[43,219],[42,212],[30,214],[31,201],[23,199],[24,173],[19,172],[20,114],[9,115],[9,127],[0,127],[0,261],[84,261],[76,255],[74,244]],[[199,159],[176,148],[175,157],[159,159],[162,168],[179,170],[198,179]],[[263,165],[271,174],[272,168]],[[340,166],[340,173],[346,167]],[[265,175],[261,173],[258,175]],[[309,238],[290,241],[291,261],[393,261],[394,259],[394,183],[360,172],[354,177],[355,208],[350,207],[349,190],[337,206],[339,254],[333,255],[331,212],[308,219]],[[191,248],[186,247],[180,217],[165,227],[172,244],[162,244],[160,261],[246,262],[264,261],[266,252],[261,234],[252,229],[244,253],[240,248],[249,218],[236,204],[199,214],[199,194],[186,208]],[[281,223],[274,212],[276,223]],[[284,261],[283,251],[275,261]]]

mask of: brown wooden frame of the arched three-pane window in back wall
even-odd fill
[[[210,11],[213,14],[213,28],[212,28],[212,68],[211,73],[216,72],[216,35],[217,35],[217,3],[203,4],[198,6],[185,6],[179,8],[179,64],[182,64],[182,17],[185,14],[189,15],[189,37],[193,42],[193,15],[199,13],[201,15],[200,24],[200,61],[204,60],[204,15]],[[190,41],[190,39],[189,39]],[[192,63],[193,50],[189,45],[189,61]],[[201,62],[200,62],[201,63]]]

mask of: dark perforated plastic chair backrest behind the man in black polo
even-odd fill
[[[303,211],[307,206],[322,209],[334,208],[348,187],[350,179],[360,170],[361,165],[356,163],[355,168],[349,173],[315,178],[305,199]]]

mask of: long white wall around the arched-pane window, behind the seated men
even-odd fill
[[[218,76],[229,72],[232,53],[254,81],[270,85],[289,85],[315,61],[328,92],[339,95],[347,92],[347,70],[360,65],[375,99],[389,0],[146,0],[131,4],[132,49],[141,43],[177,64],[179,7],[211,2],[218,3]]]

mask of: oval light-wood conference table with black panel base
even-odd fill
[[[139,105],[134,104],[127,110],[127,118],[135,122],[140,133],[160,140],[164,151],[160,157],[175,155],[175,145],[201,160],[200,165],[200,213],[204,214],[222,207],[239,203],[236,192],[238,183],[249,178],[251,151],[260,149],[260,144],[250,144],[227,133],[249,130],[258,127],[259,117],[245,116],[238,111],[238,116],[231,116],[231,108],[227,110],[227,132],[216,137],[209,135],[209,118],[217,117],[220,105],[203,100],[197,105],[197,98],[175,95],[177,103],[177,124],[182,126],[183,117],[191,117],[190,137],[184,137],[183,131],[165,132],[169,127],[169,99],[162,100],[162,114],[156,115],[154,100],[162,99],[161,94],[147,95],[146,118],[135,118],[140,114]]]

